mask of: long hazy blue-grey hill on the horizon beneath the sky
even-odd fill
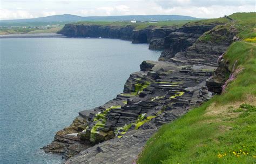
[[[78,22],[78,21],[126,21],[126,20],[195,20],[190,16],[180,15],[128,15],[128,16],[90,16],[82,17],[70,14],[54,15],[48,17],[39,17],[31,19],[13,19],[13,20],[0,20],[0,23],[25,23],[25,22]]]

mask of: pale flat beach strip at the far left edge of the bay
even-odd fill
[[[8,34],[0,35],[0,39],[6,38],[65,38],[64,35],[59,33],[24,33],[24,34]]]

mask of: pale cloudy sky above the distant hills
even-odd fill
[[[36,18],[69,13],[79,16],[185,15],[218,18],[255,12],[255,0],[0,0],[0,19]]]

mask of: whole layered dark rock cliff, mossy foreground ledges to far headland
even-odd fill
[[[105,29],[100,26],[79,28],[67,25],[62,33],[110,37],[110,32],[99,32]],[[98,31],[90,33],[88,29],[93,28]],[[150,40],[152,49],[165,48],[168,54],[159,61],[143,61],[140,71],[127,79],[124,93],[102,106],[79,112],[71,126],[57,132],[55,140],[43,148],[45,152],[63,154],[65,159],[70,158],[66,163],[132,163],[156,129],[212,97],[214,93],[208,91],[206,80],[216,76],[217,60],[236,34],[233,26],[216,23],[131,29],[131,36],[140,40],[134,43]],[[128,38],[118,30],[113,36]],[[210,84],[214,88],[214,82]]]

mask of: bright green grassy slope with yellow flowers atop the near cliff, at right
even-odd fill
[[[165,125],[147,142],[138,163],[255,163],[255,12],[235,13],[239,37],[224,58],[244,70],[225,92]],[[253,106],[240,106],[242,104]],[[242,107],[242,108],[241,108]]]

